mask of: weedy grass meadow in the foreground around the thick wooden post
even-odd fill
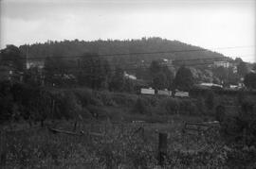
[[[78,135],[54,133],[46,127],[22,129],[25,126],[20,125],[15,132],[1,132],[2,167],[159,168],[159,132],[168,133],[165,168],[256,166],[255,147],[237,150],[214,134],[182,132],[184,121],[198,122],[204,118],[184,115],[166,118],[167,123],[154,124],[81,123],[74,131]],[[55,128],[73,133],[72,122],[60,121]]]

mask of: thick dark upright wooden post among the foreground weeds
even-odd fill
[[[167,156],[167,133],[159,133],[158,142],[158,163],[164,165],[164,160]]]

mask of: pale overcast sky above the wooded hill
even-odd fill
[[[1,48],[47,40],[161,37],[252,62],[256,61],[255,2],[1,0]]]

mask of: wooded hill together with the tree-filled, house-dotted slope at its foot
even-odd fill
[[[157,53],[163,51],[187,52]],[[150,54],[151,52],[153,54]],[[146,54],[132,55],[134,53]],[[111,56],[113,54],[117,55]],[[107,56],[101,57],[101,55]],[[237,64],[237,73],[232,67],[209,67],[205,63],[212,63],[218,60],[216,58],[225,59],[224,56],[186,43],[160,38],[142,38],[131,41],[46,42],[26,44],[19,48],[9,45],[1,51],[0,58],[12,59],[13,65],[22,70],[20,65],[23,64],[25,57],[30,58],[30,61],[41,60],[45,66],[43,74],[37,68],[26,70],[24,79],[29,83],[39,83],[40,76],[38,75],[41,74],[46,77],[45,84],[85,85],[93,89],[109,89],[111,91],[115,91],[115,89],[117,91],[132,91],[133,82],[121,79],[122,77],[119,75],[122,72],[137,76],[138,79],[146,81],[148,86],[157,89],[174,88],[174,75],[178,73],[178,69],[182,65],[187,64],[193,78],[189,81],[195,83],[213,82],[229,86],[237,84],[241,77],[248,72],[247,63],[242,59],[230,59],[231,62],[234,61]],[[178,61],[179,59],[180,61]],[[157,68],[157,66],[161,68]],[[124,82],[125,80],[127,82]],[[176,78],[176,80],[178,79]],[[118,83],[121,85],[117,85]],[[192,86],[192,83],[187,84],[188,86]],[[180,89],[182,88],[184,85]]]

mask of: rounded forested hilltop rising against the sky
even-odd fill
[[[93,42],[78,40],[63,42],[49,41],[45,43],[21,45],[20,49],[27,55],[27,58],[76,57],[82,56],[84,53],[97,53],[99,55],[115,54],[116,59],[125,58],[130,61],[143,59],[146,62],[151,62],[153,59],[213,59],[224,57],[222,54],[211,52],[210,50],[205,50],[197,46],[161,38],[142,38],[141,40],[127,41],[98,40]],[[146,54],[137,55],[137,53]],[[117,54],[130,55],[119,56]]]

